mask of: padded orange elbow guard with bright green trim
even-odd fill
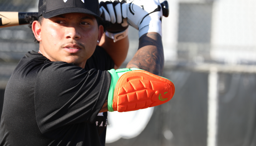
[[[118,77],[112,84],[108,98],[109,111],[128,112],[155,107],[173,98],[175,87],[171,80],[142,69],[111,69],[113,77]],[[120,74],[121,73],[121,74]],[[115,85],[114,85],[115,84]],[[113,92],[113,87],[115,87]],[[110,89],[111,90],[111,89]]]

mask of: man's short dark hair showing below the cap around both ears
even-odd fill
[[[33,21],[38,21],[40,24],[42,24],[43,16],[39,16],[39,17],[33,16],[33,15],[32,16],[27,16],[26,17],[26,21],[28,22],[28,27],[31,28],[31,30],[32,30],[32,23],[33,23]],[[96,21],[98,23],[98,26],[102,25],[104,27],[104,32],[106,32],[106,27],[109,26],[109,22],[101,21],[99,18],[96,18]],[[39,43],[39,41],[37,41],[35,36],[34,36],[34,41],[36,43]]]

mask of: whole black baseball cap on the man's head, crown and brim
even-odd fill
[[[51,18],[66,13],[91,14],[102,20],[98,0],[39,0],[38,17]]]

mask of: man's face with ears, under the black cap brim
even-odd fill
[[[40,41],[43,56],[50,61],[63,61],[80,67],[84,67],[86,60],[92,56],[103,33],[96,18],[83,13],[43,19],[39,27],[32,29],[39,36],[35,35]]]

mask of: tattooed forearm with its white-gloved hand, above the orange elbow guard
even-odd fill
[[[163,11],[159,0],[140,0],[127,3],[127,22],[139,30],[139,49],[127,68],[140,68],[163,75],[164,51],[161,40]]]

